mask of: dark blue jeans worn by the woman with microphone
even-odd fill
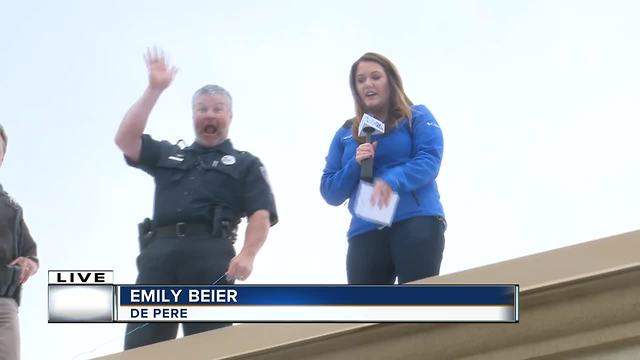
[[[347,278],[353,285],[390,285],[440,273],[444,219],[418,216],[349,239]]]

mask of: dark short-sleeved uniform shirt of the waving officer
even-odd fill
[[[239,218],[267,210],[271,225],[278,221],[264,166],[252,154],[234,149],[228,139],[214,147],[194,142],[182,149],[144,134],[139,161],[125,159],[155,179],[153,220],[157,226],[208,224],[215,205],[230,208]]]

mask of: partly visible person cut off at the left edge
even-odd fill
[[[0,166],[6,150],[7,134],[0,125]],[[0,185],[0,360],[20,358],[20,290],[38,271],[36,255],[36,243],[22,218],[22,208]]]

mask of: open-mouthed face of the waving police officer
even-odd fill
[[[205,146],[223,142],[229,134],[232,117],[229,103],[223,95],[198,96],[193,106],[193,127],[197,141]]]

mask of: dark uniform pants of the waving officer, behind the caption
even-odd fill
[[[210,235],[197,237],[154,238],[138,256],[136,284],[150,285],[211,285],[229,267],[235,256],[230,241]],[[223,277],[217,285],[233,282]],[[231,323],[182,323],[185,336],[230,326]],[[175,339],[178,323],[129,323],[125,350]]]

